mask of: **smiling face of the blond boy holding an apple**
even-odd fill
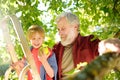
[[[43,37],[37,32],[32,35],[30,43],[34,48],[39,48],[43,43]]]

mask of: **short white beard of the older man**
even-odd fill
[[[63,41],[61,39],[61,44],[63,46],[67,46],[69,44],[72,44],[72,42],[74,41],[75,38],[76,38],[75,32],[71,30],[69,35],[67,36],[66,40]]]

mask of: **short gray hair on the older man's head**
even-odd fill
[[[60,14],[57,18],[56,18],[56,22],[59,22],[61,18],[66,18],[66,20],[68,21],[68,23],[70,24],[77,24],[78,27],[80,26],[80,22],[79,22],[79,18],[74,15],[71,12],[64,12],[62,14]]]

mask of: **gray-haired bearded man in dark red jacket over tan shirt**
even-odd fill
[[[57,17],[56,22],[61,41],[54,45],[53,51],[57,58],[58,80],[66,80],[68,73],[78,64],[89,63],[99,55],[99,40],[91,41],[93,35],[80,35],[80,22],[73,13],[62,13]]]

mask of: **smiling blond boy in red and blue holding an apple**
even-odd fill
[[[46,48],[48,53],[45,53],[46,51],[40,49],[45,38],[44,30],[38,25],[32,25],[28,29],[27,37],[31,43],[30,50],[41,80],[56,80],[57,63],[55,54],[50,48]],[[13,66],[15,67],[16,65],[19,65],[16,70],[21,71],[25,66],[25,61],[26,60],[23,59],[22,61],[15,63]],[[30,70],[28,71],[28,80],[32,80]]]

